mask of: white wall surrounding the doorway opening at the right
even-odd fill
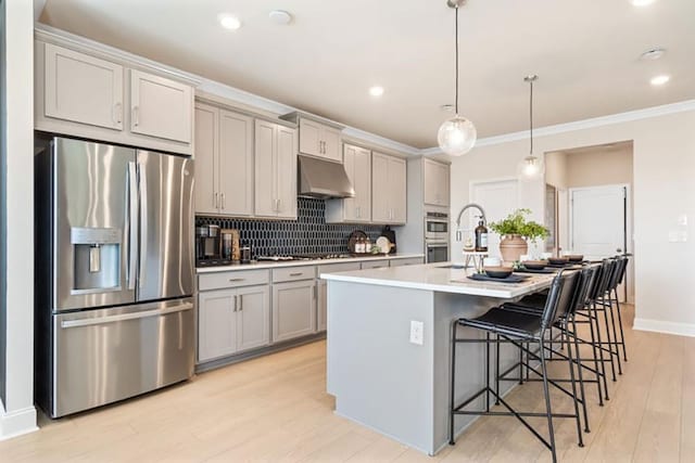
[[[633,140],[635,326],[695,336],[695,246],[669,243],[680,215],[695,220],[695,107],[685,111],[576,129],[534,138],[536,153]],[[452,163],[452,210],[468,202],[471,180],[514,176],[528,140],[473,149]],[[520,194],[520,204],[543,217],[542,182]],[[484,205],[483,205],[484,206]],[[453,253],[460,253],[460,243]],[[665,267],[668,266],[668,271]]]

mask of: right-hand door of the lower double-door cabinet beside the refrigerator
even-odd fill
[[[270,305],[268,286],[237,291],[237,348],[239,351],[270,344]]]

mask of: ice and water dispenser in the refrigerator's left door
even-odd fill
[[[121,229],[72,228],[75,268],[73,292],[121,287]]]

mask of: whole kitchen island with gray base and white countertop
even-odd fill
[[[439,262],[320,275],[328,281],[327,390],[336,397],[336,413],[430,455],[448,442],[452,321],[548,287],[553,276],[479,282],[467,278],[472,270],[457,267]],[[484,385],[484,345],[459,345],[456,359],[458,400]],[[516,359],[503,346],[503,370]],[[456,432],[471,421],[457,416]]]

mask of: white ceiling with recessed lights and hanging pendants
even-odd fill
[[[274,9],[293,23],[271,24]],[[223,29],[222,12],[243,26]],[[528,74],[538,127],[695,99],[693,0],[469,0],[459,14],[460,113],[479,138],[528,128]],[[446,0],[48,0],[40,21],[415,147],[451,117]],[[664,59],[639,60],[655,47]],[[660,73],[671,81],[649,86]]]

